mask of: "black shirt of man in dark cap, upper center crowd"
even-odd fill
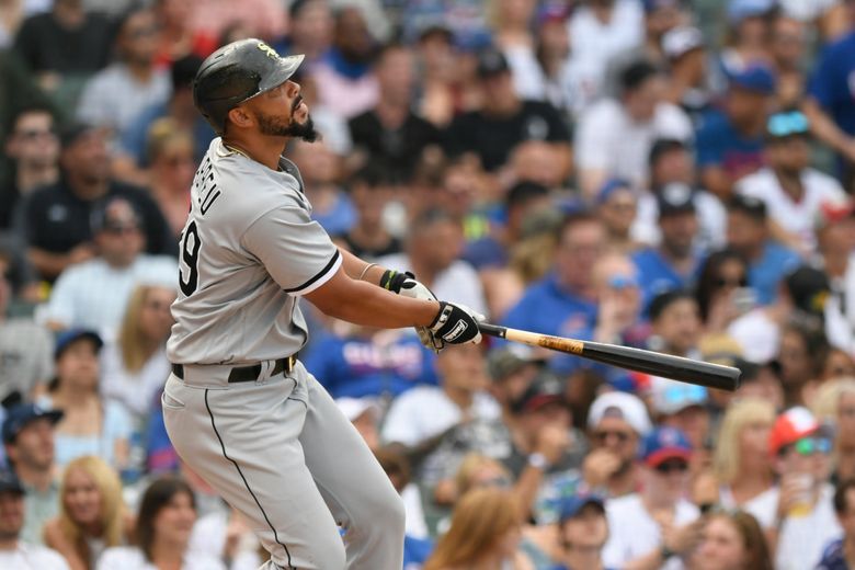
[[[449,155],[475,152],[483,168],[493,171],[526,140],[569,142],[570,133],[552,105],[523,101],[520,111],[508,117],[491,117],[480,111],[457,116],[445,132],[445,150]]]

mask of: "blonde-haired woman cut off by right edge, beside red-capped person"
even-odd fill
[[[829,380],[817,391],[813,414],[834,429],[832,481],[855,477],[855,378]]]

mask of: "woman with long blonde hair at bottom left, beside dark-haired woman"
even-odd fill
[[[45,524],[45,544],[61,554],[70,570],[90,570],[105,548],[128,542],[133,517],[122,501],[118,475],[94,456],[66,467],[59,515]]]

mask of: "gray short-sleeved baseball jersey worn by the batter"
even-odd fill
[[[303,347],[297,300],[342,262],[310,214],[293,162],[282,158],[276,172],[212,141],[181,236],[171,362],[254,364]]]

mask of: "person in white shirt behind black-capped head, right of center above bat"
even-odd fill
[[[638,198],[638,216],[632,225],[631,236],[650,246],[661,243],[658,201],[665,189],[676,183],[692,189],[695,212],[704,214],[698,217],[695,247],[703,252],[722,247],[727,226],[725,206],[718,197],[697,186],[695,158],[686,142],[672,138],[657,139],[650,148],[648,162],[649,192],[642,192]]]

